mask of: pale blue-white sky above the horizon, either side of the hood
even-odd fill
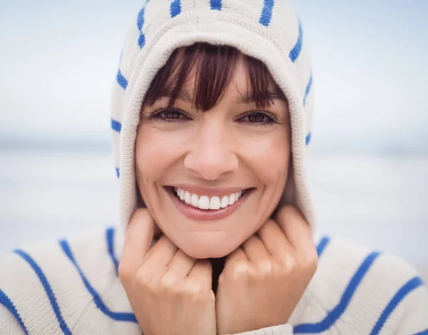
[[[291,2],[312,51],[314,148],[428,153],[428,1]],[[0,147],[109,145],[109,95],[142,4],[0,0]]]

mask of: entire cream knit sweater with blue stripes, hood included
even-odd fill
[[[286,0],[151,0],[126,36],[111,128],[121,228],[34,244],[0,260],[0,334],[141,334],[118,278],[123,232],[138,207],[135,141],[144,96],[180,46],[227,44],[263,61],[290,111],[292,170],[281,203],[315,232],[305,175],[314,93],[302,24]],[[428,293],[402,259],[328,237],[287,324],[246,334],[428,334]]]

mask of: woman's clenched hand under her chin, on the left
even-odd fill
[[[154,231],[148,211],[136,210],[118,270],[143,333],[216,334],[210,262],[188,257],[165,235],[151,247]]]

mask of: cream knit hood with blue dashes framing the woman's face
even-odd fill
[[[292,166],[282,204],[296,205],[315,228],[305,161],[312,130],[312,71],[300,20],[286,0],[148,0],[126,36],[111,110],[113,153],[126,230],[138,205],[135,142],[143,99],[176,48],[229,45],[263,61],[287,97]]]

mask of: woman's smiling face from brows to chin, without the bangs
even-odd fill
[[[256,108],[238,64],[218,103],[192,106],[190,72],[173,108],[144,107],[136,139],[138,189],[163,234],[190,257],[223,257],[270,217],[290,162],[285,100]],[[275,86],[272,83],[272,93]]]

